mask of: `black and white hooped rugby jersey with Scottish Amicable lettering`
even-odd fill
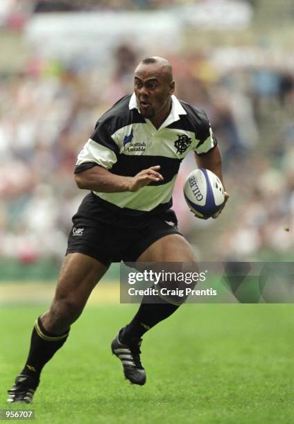
[[[205,154],[215,145],[205,112],[172,96],[171,112],[157,130],[141,116],[132,94],[121,98],[98,120],[78,154],[75,173],[98,165],[111,173],[133,177],[143,169],[160,165],[163,182],[151,182],[135,193],[93,192],[97,213],[110,210],[117,212],[111,214],[115,220],[116,215],[136,215],[146,221],[171,207],[182,159],[191,151]],[[109,217],[106,220],[111,221]]]

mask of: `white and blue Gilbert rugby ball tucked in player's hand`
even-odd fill
[[[184,198],[198,218],[211,218],[225,202],[223,184],[208,169],[193,170],[184,183]]]

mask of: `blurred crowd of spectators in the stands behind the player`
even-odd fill
[[[30,2],[35,8],[43,3]],[[121,44],[109,69],[87,64],[85,58],[64,64],[32,56],[21,72],[1,74],[0,257],[24,263],[62,258],[71,215],[85,195],[73,179],[77,154],[98,117],[130,94],[133,69],[141,59],[135,48]],[[290,258],[294,73],[282,64],[254,63],[220,71],[203,51],[168,54],[168,59],[178,98],[209,115],[231,195],[218,220],[193,218],[182,197],[184,178],[195,166],[193,157],[187,158],[173,196],[180,230],[200,248],[202,260]],[[201,256],[205,243],[207,255]]]

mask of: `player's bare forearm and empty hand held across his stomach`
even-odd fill
[[[160,166],[141,170],[135,177],[123,177],[110,173],[101,166],[93,166],[87,170],[76,173],[74,178],[78,188],[98,191],[101,193],[119,193],[122,191],[138,191],[150,182],[163,180],[158,172]]]

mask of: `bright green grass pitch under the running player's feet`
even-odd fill
[[[134,306],[91,306],[42,373],[40,423],[293,423],[294,306],[185,305],[144,337],[144,387],[110,353]],[[2,308],[0,409],[43,308]],[[32,407],[32,406],[31,406]],[[19,408],[17,407],[12,408]],[[21,409],[29,409],[21,405]]]

